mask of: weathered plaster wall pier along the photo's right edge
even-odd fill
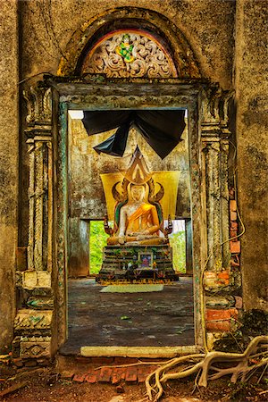
[[[237,1],[235,86],[238,105],[239,206],[246,226],[241,240],[246,309],[268,307],[267,20],[266,0]]]

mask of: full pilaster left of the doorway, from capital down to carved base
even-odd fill
[[[53,143],[51,89],[29,88],[23,93],[29,155],[28,270],[18,273],[21,306],[14,321],[13,353],[22,359],[51,354],[54,309],[52,272]]]

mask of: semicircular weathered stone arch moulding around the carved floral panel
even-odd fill
[[[188,40],[178,27],[160,13],[137,7],[121,7],[98,14],[76,30],[69,41],[65,57],[62,58],[58,75],[79,76],[88,51],[96,46],[100,38],[119,30],[138,29],[166,50],[174,63],[180,79],[200,79],[202,73]],[[84,71],[85,72],[85,71]],[[157,77],[158,78],[158,77]]]

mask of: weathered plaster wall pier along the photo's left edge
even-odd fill
[[[0,22],[0,354],[13,340],[18,203],[18,30],[16,0],[1,2]],[[4,16],[4,18],[3,18]]]

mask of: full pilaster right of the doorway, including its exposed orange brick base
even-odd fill
[[[231,269],[229,242],[228,106],[231,96],[231,92],[211,88],[205,93],[202,102],[201,197],[202,205],[205,206],[207,237],[204,288],[205,326],[209,348],[213,348],[214,332],[237,328],[239,315],[236,297],[232,294],[240,284],[238,275],[234,277]]]

